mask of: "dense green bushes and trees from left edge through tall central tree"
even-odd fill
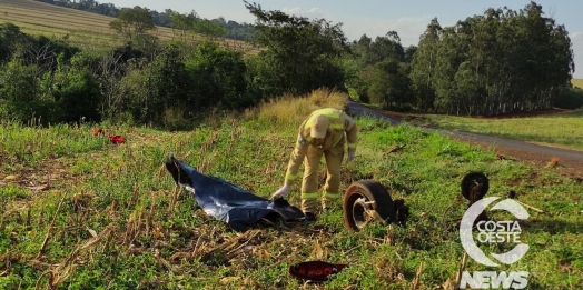
[[[0,24],[0,119],[43,124],[107,119],[178,129],[215,109],[244,110],[284,92],[344,87],[346,43],[337,26],[279,20],[258,6],[247,8],[258,16],[259,42],[268,48],[258,56],[208,40],[81,51]]]

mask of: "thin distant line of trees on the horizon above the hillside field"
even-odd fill
[[[99,13],[108,17],[117,18],[119,17],[119,13],[121,10],[128,9],[128,8],[118,8],[112,3],[99,3],[93,0],[37,0],[40,2],[51,3],[51,4],[58,4],[62,7],[68,7],[72,9],[78,9],[82,11]],[[135,7],[139,8],[139,7]],[[142,8],[146,9],[146,8]],[[176,11],[172,11],[170,9],[166,9],[162,12],[158,12],[156,10],[148,9],[149,14],[151,16],[151,19],[154,21],[155,26],[159,27],[168,27],[174,29],[180,29],[179,27],[176,27],[176,21],[172,21],[172,14],[176,14]],[[238,23],[236,21],[231,20],[225,20],[225,18],[219,17],[217,19],[206,19],[198,16],[195,11],[189,13],[194,21],[201,22],[204,24],[200,24],[200,27],[209,24],[218,26],[220,29],[219,36],[228,39],[236,39],[236,40],[248,40],[251,41],[257,32],[254,30],[253,24],[250,23]],[[206,23],[205,23],[206,22]],[[205,28],[201,28],[200,32],[204,32]],[[196,31],[196,30],[195,30]],[[199,32],[199,31],[196,31]]]

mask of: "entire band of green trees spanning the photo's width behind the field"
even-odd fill
[[[535,3],[518,12],[490,9],[451,28],[433,20],[419,46],[407,48],[394,31],[349,42],[340,24],[325,19],[245,6],[256,17],[264,48],[255,56],[221,48],[213,38],[161,42],[147,33],[150,26],[144,23],[151,16],[141,8],[112,21],[127,42],[107,50],[81,50],[1,24],[0,119],[178,129],[211,110],[245,110],[323,87],[401,111],[495,114],[583,107],[583,91],[570,83],[567,32]],[[191,16],[174,18],[190,29]]]

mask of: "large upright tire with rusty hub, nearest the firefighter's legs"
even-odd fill
[[[370,208],[387,223],[396,221],[395,204],[386,188],[378,181],[366,179],[354,182],[344,193],[344,224],[348,230],[359,231],[368,224],[362,199],[374,201]]]

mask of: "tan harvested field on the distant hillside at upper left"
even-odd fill
[[[121,43],[115,31],[109,29],[112,20],[115,18],[33,0],[0,0],[0,23],[12,22],[30,34],[59,39],[69,36],[72,42],[79,44],[111,47]],[[175,36],[171,28],[165,27],[157,27],[152,34],[160,40],[171,40]],[[195,36],[195,40],[200,39],[200,36]],[[249,53],[259,51],[250,43],[238,40],[221,39],[220,44]]]

